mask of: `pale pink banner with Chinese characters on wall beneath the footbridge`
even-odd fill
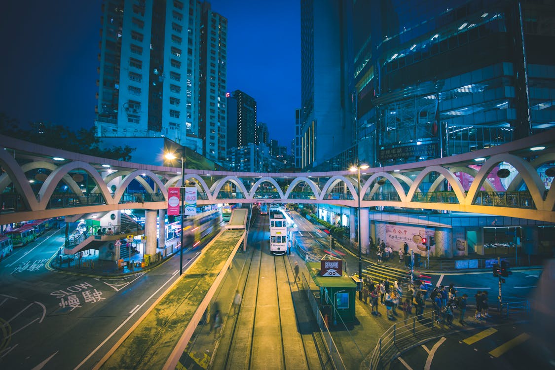
[[[408,250],[413,249],[415,253],[426,252],[426,246],[422,243],[422,238],[427,237],[430,244],[430,254],[436,249],[435,230],[426,229],[426,227],[403,226],[403,225],[385,225],[386,240],[385,244],[393,249],[393,253],[403,249],[405,242],[408,244]]]

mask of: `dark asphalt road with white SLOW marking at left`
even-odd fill
[[[91,368],[178,276],[179,259],[119,278],[49,271],[63,241],[51,230],[0,262],[0,368]]]

